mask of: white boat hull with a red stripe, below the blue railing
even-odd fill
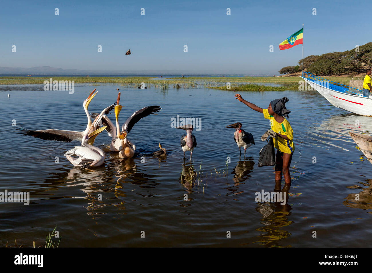
[[[304,79],[305,82],[307,82],[307,84],[309,84],[312,88],[317,90],[333,106],[357,115],[372,117],[372,96],[367,98],[363,95],[339,92],[327,88],[326,86],[319,84],[319,82],[314,82],[304,77],[301,78]]]

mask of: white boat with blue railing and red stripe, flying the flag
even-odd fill
[[[333,106],[361,116],[372,117],[371,95],[368,98],[364,97],[362,91],[359,89],[328,81],[310,72],[303,72],[302,77],[299,77],[317,90]]]

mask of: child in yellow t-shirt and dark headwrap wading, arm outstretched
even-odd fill
[[[292,155],[295,151],[295,144],[293,143],[292,127],[285,118],[291,113],[291,111],[285,108],[285,103],[289,101],[288,98],[283,97],[271,101],[267,109],[262,109],[253,103],[243,100],[240,94],[235,94],[235,98],[251,109],[263,113],[263,117],[270,120],[271,129],[276,133],[276,138],[273,138],[274,147],[278,149],[275,158],[275,183],[280,185],[283,172],[285,185],[291,185],[289,166],[291,165]]]

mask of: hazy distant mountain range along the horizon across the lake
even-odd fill
[[[226,73],[221,71],[185,71],[185,70],[136,70],[136,71],[123,71],[123,70],[80,70],[80,69],[62,69],[51,66],[36,66],[31,68],[22,67],[7,67],[0,66],[0,74],[16,74],[16,75],[235,75],[235,76],[272,76],[274,74],[258,74],[247,73],[242,74],[241,71],[227,70]],[[266,71],[267,72],[267,71]]]

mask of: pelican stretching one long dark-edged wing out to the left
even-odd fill
[[[23,136],[33,136],[33,137],[38,137],[39,139],[44,139],[44,140],[57,140],[57,141],[64,141],[64,142],[71,142],[73,140],[77,140],[81,142],[83,140],[84,135],[88,133],[90,126],[92,125],[92,120],[88,112],[88,106],[89,106],[89,103],[94,98],[94,96],[97,94],[97,92],[93,94],[94,91],[96,91],[96,89],[94,89],[92,93],[90,93],[89,97],[83,102],[84,111],[88,118],[87,127],[84,131],[79,132],[79,131],[68,131],[68,130],[58,130],[58,129],[27,130],[23,127],[15,128],[15,129],[18,131],[18,133],[22,134]],[[112,104],[110,107],[113,108],[114,106],[115,104]],[[89,144],[93,144],[92,139],[89,140]]]

